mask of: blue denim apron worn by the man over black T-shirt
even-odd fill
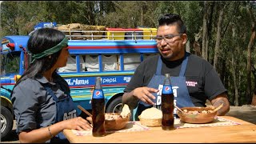
[[[190,54],[186,53],[185,58],[182,61],[182,67],[178,77],[170,77],[170,82],[172,85],[172,89],[174,92],[174,104],[178,107],[186,107],[186,106],[194,106],[193,102],[191,101],[189,91],[186,87],[186,77],[185,77],[185,70],[186,65],[188,62],[188,56]],[[162,86],[164,81],[164,75],[161,74],[162,70],[162,59],[161,56],[158,58],[158,66],[156,70],[156,74],[154,74],[153,78],[151,78],[148,87],[152,87],[154,89],[158,89],[158,93],[152,93],[155,99],[151,99],[155,103],[155,107],[161,110],[161,94],[162,94]],[[171,75],[171,74],[170,74]],[[135,114],[135,119],[138,120],[138,115],[142,113],[143,110],[152,107],[152,105],[146,104],[145,102],[139,101],[138,102],[138,109]],[[176,108],[174,109],[174,115],[176,115]]]

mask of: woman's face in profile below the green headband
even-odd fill
[[[57,59],[57,62],[55,63],[54,67],[64,67],[66,66],[67,58],[69,57],[70,52],[69,49],[66,47],[62,48],[61,54],[59,54],[59,57]]]

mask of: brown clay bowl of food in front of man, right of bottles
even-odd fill
[[[217,111],[213,112],[214,107],[183,107],[182,113],[180,110],[177,110],[178,117],[182,122],[186,123],[209,123],[214,121],[214,117],[217,114]],[[194,113],[194,114],[193,114]]]

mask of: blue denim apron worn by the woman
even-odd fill
[[[77,112],[74,106],[74,102],[72,101],[70,94],[67,94],[66,98],[58,99],[57,96],[54,94],[53,90],[50,89],[49,84],[46,84],[45,88],[48,91],[48,93],[54,98],[54,102],[56,103],[57,111],[56,111],[54,123],[77,117]],[[66,90],[64,86],[62,86],[62,90]],[[64,134],[60,132],[56,136],[54,136],[54,138],[51,138],[50,142],[63,143],[63,142],[68,142],[68,140],[66,139]]]

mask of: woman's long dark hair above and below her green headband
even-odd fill
[[[65,34],[63,34],[62,31],[56,30],[54,28],[38,29],[30,35],[30,38],[27,42],[27,49],[32,55],[39,54],[58,45],[58,43],[62,42],[63,38],[65,38]],[[34,79],[42,77],[42,74],[46,70],[50,70],[50,68],[57,62],[61,51],[62,50],[59,50],[57,53],[51,54],[50,58],[49,56],[46,56],[43,58],[34,59],[34,62],[30,64],[25,73],[22,74],[22,77],[18,79],[18,82],[15,84],[15,86],[27,78]]]

